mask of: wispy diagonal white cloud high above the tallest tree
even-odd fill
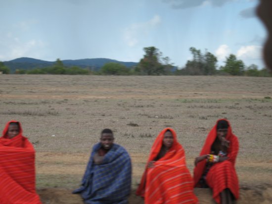
[[[134,23],[124,31],[124,40],[130,47],[136,46],[139,42],[139,38],[142,35],[148,35],[149,32],[161,23],[159,15],[155,15],[152,19],[142,22]]]

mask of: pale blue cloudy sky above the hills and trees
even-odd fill
[[[258,0],[0,0],[0,61],[32,57],[138,62],[154,46],[183,67],[190,47],[223,65],[265,65]]]

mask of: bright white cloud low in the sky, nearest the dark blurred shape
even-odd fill
[[[260,59],[262,46],[242,46],[237,51],[237,57],[241,59]]]

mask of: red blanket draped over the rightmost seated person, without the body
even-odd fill
[[[228,121],[227,121],[228,122]],[[217,123],[216,123],[217,124]],[[202,151],[199,155],[210,154],[211,147],[217,137],[217,125],[213,127],[208,134]],[[212,165],[206,176],[206,183],[213,190],[213,198],[217,203],[221,203],[220,193],[228,188],[237,200],[239,198],[239,183],[235,171],[235,160],[239,150],[237,137],[232,133],[228,122],[228,130],[226,139],[230,141],[227,149],[228,159]],[[199,180],[205,171],[206,160],[199,162],[194,168],[194,186],[199,187]]]

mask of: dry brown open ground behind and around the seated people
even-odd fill
[[[22,122],[37,151],[43,202],[76,204],[81,200],[70,192],[103,128],[113,129],[115,142],[131,154],[135,191],[163,128],[176,130],[192,172],[207,133],[227,118],[240,142],[239,203],[265,204],[272,203],[271,98],[272,78],[0,75],[0,127],[11,119]],[[201,203],[210,203],[205,191],[196,191]]]

